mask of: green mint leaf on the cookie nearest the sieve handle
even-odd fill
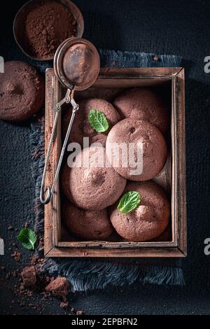
[[[90,127],[92,127],[97,132],[106,132],[109,129],[109,122],[106,119],[104,113],[91,109],[88,114],[88,120]]]

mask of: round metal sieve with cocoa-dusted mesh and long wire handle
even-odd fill
[[[54,57],[54,71],[58,80],[64,87],[67,88],[65,97],[57,104],[55,104],[55,120],[52,126],[52,134],[50,137],[50,143],[48,151],[45,155],[45,167],[43,169],[43,177],[41,181],[41,193],[40,200],[43,204],[50,202],[52,195],[55,191],[57,178],[59,176],[59,170],[62,165],[62,159],[64,157],[64,151],[66,148],[73,120],[76,116],[76,112],[79,107],[73,99],[75,90],[85,90],[94,83],[99,74],[100,59],[97,49],[83,38],[68,38],[66,39],[57,51]],[[62,151],[59,156],[57,169],[55,172],[55,178],[52,182],[52,186],[45,186],[45,175],[47,172],[48,162],[50,158],[50,152],[52,150],[52,144],[55,137],[55,131],[57,127],[57,120],[61,115],[62,104],[70,103],[72,106],[71,119],[69,121],[69,127],[66,132]]]

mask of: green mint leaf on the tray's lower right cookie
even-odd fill
[[[141,196],[137,191],[127,192],[121,197],[120,202],[118,204],[118,210],[121,211],[122,214],[130,213],[130,211],[136,209],[141,202]]]

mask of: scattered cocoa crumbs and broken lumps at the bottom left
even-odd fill
[[[16,247],[13,241],[11,241],[10,245]],[[83,311],[76,310],[72,307],[66,300],[69,290],[68,280],[64,277],[55,279],[54,276],[48,276],[43,272],[44,258],[42,248],[43,238],[40,237],[36,252],[31,255],[29,260],[29,266],[24,267],[22,270],[15,269],[13,271],[7,271],[5,266],[0,266],[0,269],[5,272],[5,279],[13,280],[11,290],[18,296],[17,300],[11,302],[13,306],[10,308],[13,309],[14,304],[18,303],[20,307],[30,307],[41,313],[43,311],[43,306],[41,307],[39,304],[36,304],[36,300],[34,299],[36,294],[39,294],[43,302],[41,305],[43,305],[46,300],[52,300],[53,296],[61,300],[59,306],[64,309],[65,314],[69,312],[78,315],[84,314]],[[22,254],[18,251],[14,251],[12,254],[15,260],[20,260],[21,256]],[[10,283],[6,284],[8,285]]]

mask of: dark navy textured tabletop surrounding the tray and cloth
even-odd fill
[[[8,1],[7,1],[8,2]],[[0,55],[5,60],[24,59],[13,40],[12,22],[26,1],[1,1]],[[204,73],[204,57],[210,55],[210,1],[75,0],[85,20],[84,37],[97,48],[181,55],[186,67],[186,156],[188,188],[188,257],[183,260],[186,286],[140,286],[69,296],[85,314],[209,314],[210,255],[204,255],[204,239],[210,237],[209,209],[209,107],[210,73]],[[22,267],[13,260],[8,246],[16,232],[33,221],[34,181],[31,177],[30,123],[0,122],[0,235],[6,255],[0,256],[7,270]],[[1,270],[1,276],[5,273]],[[2,273],[3,272],[3,273]],[[18,304],[12,293],[14,280],[1,281],[1,314],[38,314],[25,300]],[[40,297],[34,297],[40,302]],[[12,303],[12,300],[14,302]],[[43,304],[43,314],[63,314],[57,300]]]

